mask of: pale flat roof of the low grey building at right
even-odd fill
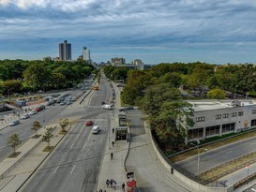
[[[253,99],[229,99],[229,100],[188,100],[193,105],[194,111],[220,110],[234,107],[247,107],[256,105]]]

